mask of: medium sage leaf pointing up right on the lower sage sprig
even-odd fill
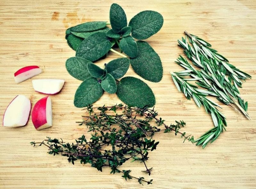
[[[127,58],[114,59],[106,65],[106,69],[115,79],[124,76],[130,66],[130,60]]]

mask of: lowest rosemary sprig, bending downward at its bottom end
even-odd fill
[[[211,99],[207,98],[206,96],[211,94],[208,91],[198,89],[197,86],[188,83],[188,81],[192,80],[201,80],[201,78],[193,78],[193,79],[185,79],[184,76],[191,75],[192,70],[184,70],[180,72],[170,72],[172,75],[172,80],[175,83],[177,89],[180,92],[183,92],[187,99],[193,98],[196,102],[198,107],[202,105],[205,108],[205,111],[212,116],[212,121],[214,123],[214,128],[207,131],[203,136],[195,140],[196,145],[202,145],[204,148],[208,142],[211,143],[216,140],[220,133],[225,129],[227,126],[226,117],[216,108],[217,106],[220,107],[218,104],[213,102]],[[214,92],[212,93],[212,95]],[[221,107],[220,107],[221,108]]]

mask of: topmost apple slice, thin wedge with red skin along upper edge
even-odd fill
[[[41,73],[42,70],[38,66],[26,66],[14,73],[14,80],[16,83],[20,83]]]

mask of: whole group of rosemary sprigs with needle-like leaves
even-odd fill
[[[211,44],[186,31],[184,33],[186,37],[178,40],[179,46],[184,49],[188,59],[200,69],[196,69],[186,58],[180,56],[176,63],[184,67],[185,70],[171,73],[171,75],[177,89],[180,92],[182,91],[187,99],[193,98],[198,107],[203,105],[205,111],[212,115],[214,128],[195,140],[196,145],[202,145],[204,148],[208,142],[211,141],[212,143],[218,138],[227,126],[225,116],[217,109],[217,106],[220,106],[207,96],[214,96],[220,102],[233,107],[235,110],[238,108],[250,119],[247,113],[248,103],[244,102],[240,96],[238,86],[242,87],[241,80],[246,80],[251,76],[228,63],[224,56],[210,48]],[[191,45],[187,41],[187,36]],[[190,78],[186,78],[186,76],[190,76]],[[196,81],[198,86],[206,90],[198,89],[196,85],[189,83],[189,81]],[[236,105],[237,108],[233,105]]]

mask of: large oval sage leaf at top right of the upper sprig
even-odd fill
[[[156,34],[163,26],[163,16],[156,11],[142,11],[136,14],[129,22],[132,28],[132,37],[147,39]]]

